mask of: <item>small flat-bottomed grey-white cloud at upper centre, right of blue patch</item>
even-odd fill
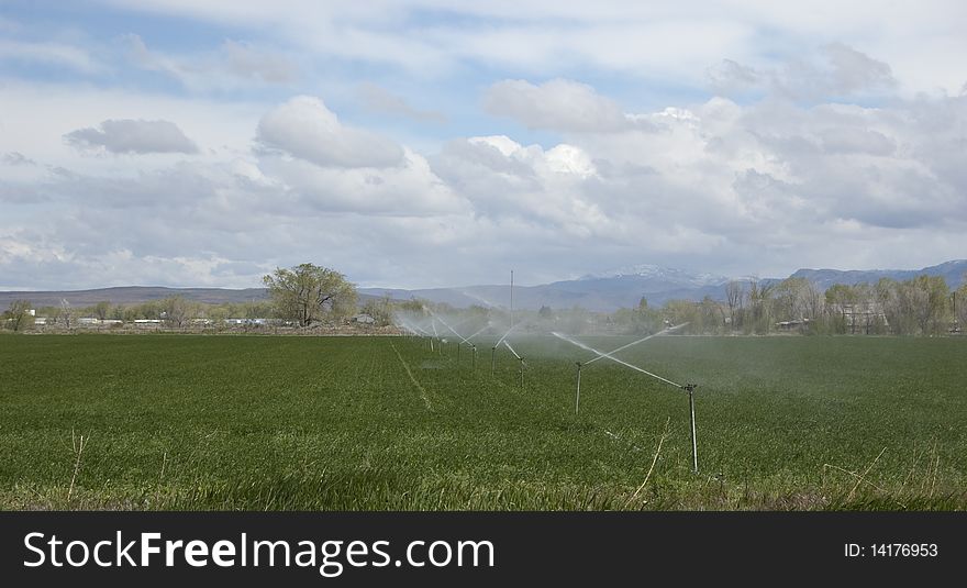
[[[530,129],[609,132],[630,125],[616,102],[586,84],[566,79],[540,86],[520,79],[499,81],[487,91],[484,107]]]

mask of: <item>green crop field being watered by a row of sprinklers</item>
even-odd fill
[[[592,356],[514,347],[523,390],[489,344],[475,370],[407,337],[2,335],[0,508],[967,508],[965,339],[622,352],[699,385],[698,475],[681,391],[600,360],[575,415]]]

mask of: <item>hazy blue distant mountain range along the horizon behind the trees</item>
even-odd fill
[[[907,280],[920,275],[943,276],[951,288],[958,288],[967,274],[967,259],[946,262],[922,269],[799,269],[791,277],[805,278],[825,290],[834,284],[876,282],[880,278]],[[579,306],[589,310],[612,311],[622,307],[633,307],[644,297],[652,306],[660,306],[668,300],[701,300],[710,296],[724,300],[725,285],[730,279],[711,274],[691,274],[682,269],[655,265],[637,265],[601,274],[582,276],[575,280],[555,281],[541,286],[514,286],[513,306],[518,309],[535,310],[542,306],[551,308],[571,308]],[[765,278],[762,281],[779,281],[783,278]],[[510,288],[508,285],[467,286],[463,288],[431,288],[403,290],[398,288],[359,288],[360,299],[389,295],[394,300],[422,298],[433,302],[446,302],[457,308],[471,304],[482,307],[508,307]],[[160,288],[129,286],[100,288],[93,290],[0,292],[0,310],[13,300],[26,299],[35,307],[57,306],[66,299],[75,307],[92,306],[101,300],[113,304],[132,304],[148,300],[159,300],[169,296],[184,296],[190,300],[209,303],[252,302],[268,297],[265,288],[232,290],[225,288]]]

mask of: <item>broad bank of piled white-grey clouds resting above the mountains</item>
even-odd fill
[[[623,114],[635,124],[543,146],[452,138],[424,156],[299,97],[253,119],[260,147],[231,162],[9,166],[0,276],[251,286],[264,266],[325,252],[356,281],[424,287],[498,280],[511,264],[534,280],[640,263],[921,267],[967,246],[967,97],[787,98]],[[43,180],[12,175],[32,168]]]

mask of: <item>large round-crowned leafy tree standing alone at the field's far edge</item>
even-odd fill
[[[356,307],[356,288],[345,276],[313,264],[276,268],[263,282],[279,317],[300,326],[319,322],[326,314],[343,315]]]

